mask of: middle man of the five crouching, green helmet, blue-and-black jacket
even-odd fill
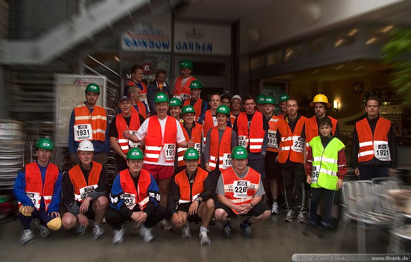
[[[114,179],[110,194],[110,209],[106,220],[114,229],[113,244],[124,240],[122,224],[134,220],[141,225],[139,234],[145,243],[154,240],[152,227],[166,216],[166,209],[159,205],[160,192],[156,180],[142,169],[144,155],[134,147],[127,152],[128,169],[121,171]]]

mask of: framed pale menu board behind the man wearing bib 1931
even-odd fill
[[[106,77],[91,75],[55,75],[56,88],[55,97],[55,133],[56,146],[66,147],[68,145],[68,126],[73,108],[85,101],[86,87],[90,83],[96,83],[100,86],[100,95],[97,100],[97,106],[105,107],[106,105]]]

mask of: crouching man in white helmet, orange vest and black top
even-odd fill
[[[94,147],[90,141],[79,144],[77,152],[80,164],[68,171],[63,180],[63,202],[67,211],[62,218],[65,229],[76,227],[76,233],[82,235],[88,227],[88,219],[95,219],[93,238],[103,238],[106,233],[101,228],[108,209],[108,176],[102,165],[94,162]]]

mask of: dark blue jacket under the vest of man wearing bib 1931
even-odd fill
[[[84,102],[86,104],[86,102]],[[89,108],[90,114],[93,112],[94,108]],[[108,130],[109,130],[109,125],[107,121],[107,127],[106,127],[106,140],[105,141],[100,141],[100,140],[91,140],[91,143],[94,146],[94,153],[101,153],[104,152],[106,155],[110,153],[110,140],[108,136]],[[68,125],[68,153],[76,153],[77,148],[79,147],[80,142],[74,141],[74,109],[71,111],[71,116],[70,116],[70,124]]]

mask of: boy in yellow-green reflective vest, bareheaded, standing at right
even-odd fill
[[[311,139],[307,152],[305,172],[307,183],[311,185],[310,214],[307,224],[309,230],[315,228],[317,221],[317,208],[321,195],[324,192],[325,208],[323,227],[319,236],[323,236],[326,229],[331,228],[331,211],[334,196],[337,190],[343,186],[343,179],[347,173],[347,160],[345,159],[344,144],[331,133],[332,123],[328,117],[319,121],[321,135]]]

